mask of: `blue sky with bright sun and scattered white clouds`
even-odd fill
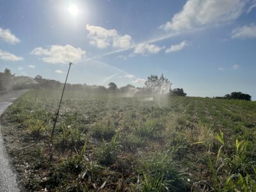
[[[191,96],[256,99],[255,0],[2,0],[0,70],[143,86],[164,74]]]

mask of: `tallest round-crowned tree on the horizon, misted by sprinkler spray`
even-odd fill
[[[149,88],[152,92],[159,92],[159,93],[168,93],[170,91],[170,87],[172,83],[164,77],[162,74],[160,77],[156,75],[148,76],[147,81],[145,81],[145,86]]]

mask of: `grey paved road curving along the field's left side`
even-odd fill
[[[26,90],[0,95],[0,115],[4,112],[12,102],[20,97]],[[1,123],[1,122],[0,122]],[[0,192],[15,192],[20,191],[16,182],[16,175],[13,173],[10,166],[6,149],[4,147],[3,136],[0,125]]]

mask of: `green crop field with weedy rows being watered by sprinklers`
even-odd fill
[[[67,90],[50,149],[59,99],[30,90],[1,117],[29,191],[256,191],[256,102]]]

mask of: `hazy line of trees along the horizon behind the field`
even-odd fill
[[[62,88],[63,83],[52,79],[44,79],[42,76],[36,76],[35,78],[27,76],[15,76],[11,70],[6,68],[3,72],[0,72],[0,92],[28,89],[28,88]],[[145,86],[135,87],[132,84],[127,84],[118,88],[118,86],[111,82],[108,84],[108,88],[98,85],[87,84],[69,84],[67,83],[68,90],[84,90],[90,93],[131,93],[135,94],[168,94],[177,96],[186,96],[183,88],[172,89],[172,83],[168,78],[161,76],[150,75],[145,81]],[[242,92],[232,92],[224,95],[223,97],[214,97],[215,99],[239,99],[239,100],[252,100],[252,96]]]

